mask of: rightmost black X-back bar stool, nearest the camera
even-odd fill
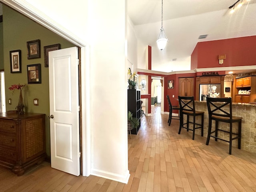
[[[241,148],[241,127],[242,117],[232,116],[232,98],[206,98],[208,114],[209,114],[209,127],[206,145],[209,144],[210,137],[220,139],[229,143],[229,154],[231,155],[232,140],[238,139],[238,149]],[[228,106],[229,105],[229,106]],[[215,120],[215,130],[212,131],[212,120]],[[229,131],[218,128],[218,122],[226,122],[229,124]],[[232,123],[238,122],[238,133],[233,132]],[[223,131],[229,134],[229,140],[218,138],[218,131]],[[215,133],[215,136],[212,134]],[[233,137],[236,135],[236,137]]]

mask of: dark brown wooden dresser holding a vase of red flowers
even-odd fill
[[[45,114],[0,113],[0,165],[20,176],[45,159],[45,148]]]

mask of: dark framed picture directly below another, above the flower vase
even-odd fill
[[[41,64],[27,65],[28,84],[41,83]]]

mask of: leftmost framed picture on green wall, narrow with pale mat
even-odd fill
[[[10,51],[11,73],[21,73],[21,50]]]

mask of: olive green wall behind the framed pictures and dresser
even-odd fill
[[[44,46],[60,44],[60,47],[73,47],[74,44],[64,40],[54,32],[40,26],[22,14],[3,5],[3,36],[4,36],[4,74],[6,91],[6,110],[15,110],[18,104],[19,92],[11,94],[8,87],[12,84],[26,84],[22,90],[25,112],[46,114],[46,153],[50,156],[50,114],[49,107],[49,71],[44,67]],[[27,44],[31,40],[40,39],[41,58],[27,59]],[[10,72],[10,51],[21,50],[21,73]],[[27,65],[41,64],[42,84],[28,84]],[[12,99],[12,105],[8,104]],[[38,106],[34,106],[33,99],[38,98]]]

